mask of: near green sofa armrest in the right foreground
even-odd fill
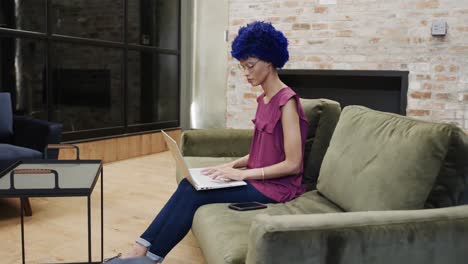
[[[246,263],[466,263],[468,206],[258,215]]]

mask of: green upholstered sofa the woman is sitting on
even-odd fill
[[[309,191],[263,210],[199,208],[192,232],[208,263],[466,263],[468,206],[460,204],[468,138],[461,129],[360,106],[340,115],[329,100],[301,102],[310,125]],[[181,147],[189,166],[210,166],[245,155],[251,135],[190,130]]]

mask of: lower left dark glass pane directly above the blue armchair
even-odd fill
[[[45,50],[39,40],[0,38],[0,90],[11,93],[18,115],[47,119]]]

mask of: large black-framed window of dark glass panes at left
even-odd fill
[[[180,1],[0,1],[0,91],[76,141],[179,126]]]

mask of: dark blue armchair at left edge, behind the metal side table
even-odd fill
[[[10,94],[0,93],[0,171],[12,161],[43,158],[46,146],[59,144],[61,135],[61,124],[13,115]],[[47,154],[58,157],[57,150]],[[31,215],[29,200],[24,202],[26,215]]]

